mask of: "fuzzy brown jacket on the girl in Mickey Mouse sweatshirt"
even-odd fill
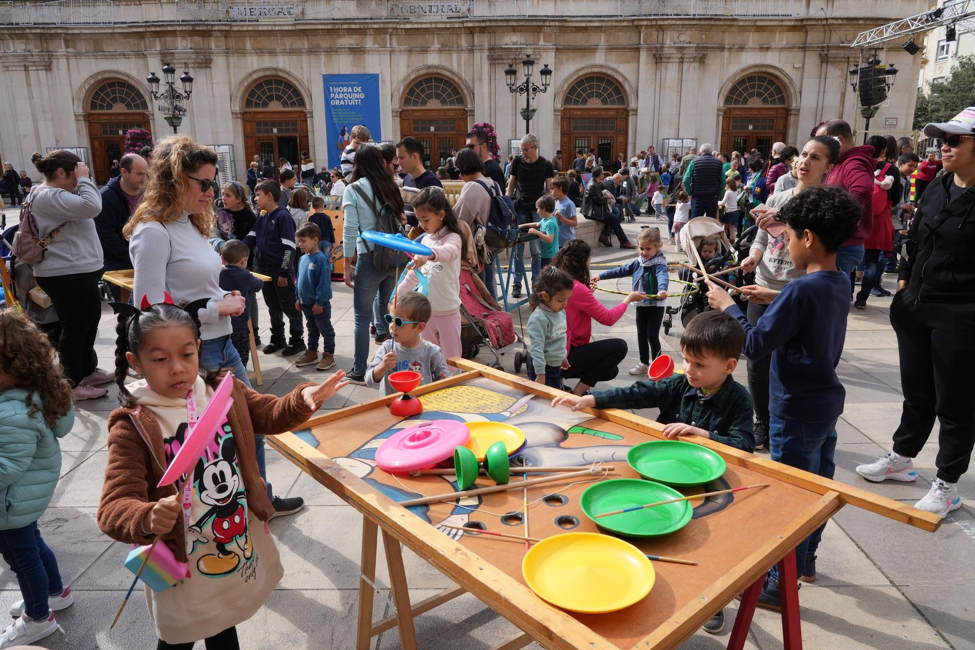
[[[261,521],[267,521],[273,509],[257,470],[254,431],[275,435],[307,421],[313,413],[301,399],[301,391],[307,386],[315,385],[301,384],[284,397],[275,397],[234,381],[234,403],[227,421],[237,445],[248,508]],[[142,518],[157,501],[176,494],[175,484],[156,487],[165,467],[163,434],[152,411],[142,407],[112,411],[108,417],[108,465],[98,505],[98,527],[105,535],[126,544],[152,543],[151,535],[142,535]],[[177,560],[186,561],[182,526],[174,526],[162,540]]]

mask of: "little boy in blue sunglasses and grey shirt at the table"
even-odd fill
[[[379,386],[379,394],[384,397],[396,392],[387,379],[390,373],[419,373],[421,386],[450,376],[440,347],[420,338],[430,320],[430,301],[426,296],[411,291],[398,297],[396,305],[389,305],[385,319],[389,323],[389,339],[379,346],[366,368],[366,386]]]

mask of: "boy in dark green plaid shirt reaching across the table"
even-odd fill
[[[752,435],[752,398],[731,373],[745,332],[733,316],[705,311],[687,323],[681,337],[683,375],[659,382],[637,382],[625,388],[599,390],[578,397],[565,395],[552,406],[565,404],[573,411],[598,409],[648,409],[657,407],[657,422],[665,425],[668,438],[701,435],[747,452],[755,451]],[[704,630],[717,634],[724,628],[724,612],[718,612]]]

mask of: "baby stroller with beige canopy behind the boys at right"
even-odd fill
[[[684,251],[690,251],[690,247],[699,248],[701,241],[704,239],[715,239],[718,241],[719,251],[710,262],[704,264],[704,270],[708,273],[716,273],[721,270],[725,264],[735,263],[735,250],[731,246],[731,242],[728,241],[727,235],[724,232],[724,226],[717,219],[712,219],[710,217],[697,217],[684,223],[683,228],[678,233],[678,240],[681,244],[681,248]],[[694,257],[693,253],[689,253],[690,258],[689,264],[692,266],[697,266],[697,259]],[[724,278],[726,282],[730,282],[735,286],[740,286],[738,282],[740,274],[735,274],[734,278]],[[699,313],[707,311],[711,307],[708,305],[708,285],[705,284],[704,278],[699,276],[697,273],[687,269],[681,268],[679,272],[679,277],[687,282],[695,282],[697,286],[697,291],[687,296],[681,297],[680,305],[668,306],[667,311],[664,313],[664,334],[670,334],[671,327],[673,326],[673,318],[675,315],[680,314],[681,324],[686,327],[687,323]],[[688,287],[689,291],[689,287]],[[735,294],[738,296],[739,294]]]

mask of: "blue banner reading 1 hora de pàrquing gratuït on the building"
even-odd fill
[[[352,127],[364,125],[372,140],[382,140],[378,74],[323,74],[329,167],[338,165],[352,140]]]

